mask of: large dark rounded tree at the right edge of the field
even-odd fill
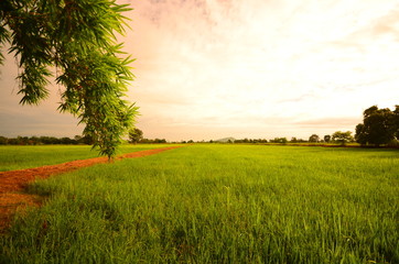
[[[399,135],[399,106],[391,111],[389,108],[378,109],[373,106],[363,113],[363,123],[356,125],[356,142],[362,145],[387,144]]]

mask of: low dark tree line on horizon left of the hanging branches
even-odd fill
[[[93,144],[93,141],[88,136],[75,135],[73,139],[55,138],[55,136],[17,136],[6,138],[0,135],[0,145],[78,145],[78,144]]]

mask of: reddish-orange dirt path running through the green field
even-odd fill
[[[176,147],[181,146],[169,146],[128,153],[118,156],[116,160],[149,156]],[[95,157],[62,163],[57,165],[0,172],[0,232],[9,227],[12,216],[15,213],[19,207],[24,208],[26,206],[40,206],[42,200],[41,197],[23,194],[23,189],[30,182],[36,178],[47,178],[53,175],[107,162],[107,157]]]

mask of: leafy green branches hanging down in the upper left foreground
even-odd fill
[[[122,99],[134,77],[133,59],[116,37],[125,33],[128,10],[115,0],[0,1],[0,47],[10,46],[21,69],[21,103],[46,99],[48,78],[55,77],[64,87],[58,110],[77,117],[84,135],[108,157],[137,114],[134,105]],[[0,53],[0,63],[3,58]]]

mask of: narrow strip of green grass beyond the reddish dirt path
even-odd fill
[[[119,153],[152,150],[168,144],[121,145]],[[0,172],[54,165],[76,160],[98,157],[89,145],[0,145]]]

